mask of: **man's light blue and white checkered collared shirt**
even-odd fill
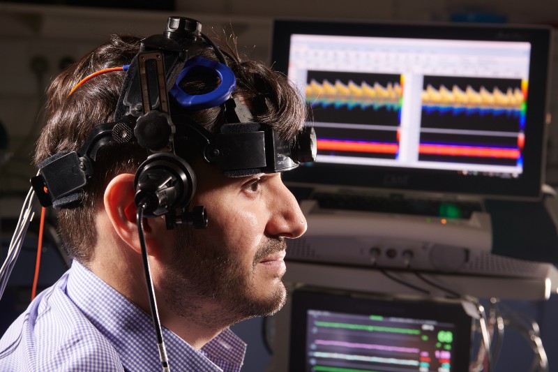
[[[197,351],[163,328],[171,371],[240,371],[226,329]],[[162,371],[151,316],[74,261],[0,339],[0,371]]]

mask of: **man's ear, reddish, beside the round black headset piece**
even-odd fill
[[[135,251],[141,252],[140,238],[137,234],[137,209],[134,203],[134,195],[134,175],[130,173],[117,175],[110,181],[105,190],[105,211],[120,239]],[[158,219],[161,220],[161,218]],[[161,222],[164,225],[164,221]],[[153,252],[152,248],[156,246],[156,242],[152,241],[150,234],[153,232],[155,225],[160,225],[160,223],[144,218],[144,237],[150,253]],[[156,226],[156,228],[161,227]]]

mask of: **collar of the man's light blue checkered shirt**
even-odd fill
[[[125,369],[161,369],[151,315],[75,260],[66,291],[86,318],[112,343]],[[169,366],[176,371],[238,371],[246,353],[246,343],[230,329],[199,351],[165,327],[163,339]]]

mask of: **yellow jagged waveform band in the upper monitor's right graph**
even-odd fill
[[[524,102],[523,93],[519,88],[508,88],[506,93],[498,88],[489,91],[481,87],[476,91],[470,85],[465,90],[457,85],[452,89],[446,88],[443,84],[436,89],[428,84],[422,92],[423,105],[451,105],[455,107],[483,107],[483,108],[504,108],[520,110]]]

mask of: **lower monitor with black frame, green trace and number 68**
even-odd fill
[[[459,303],[297,290],[289,371],[467,372],[472,318]]]

